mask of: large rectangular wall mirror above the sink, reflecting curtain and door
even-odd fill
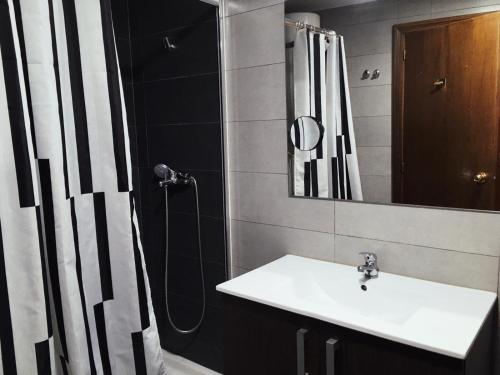
[[[500,1],[439,3],[285,2],[291,196],[500,210]]]

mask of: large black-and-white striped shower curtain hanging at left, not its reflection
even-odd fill
[[[0,0],[0,373],[163,374],[108,0]]]

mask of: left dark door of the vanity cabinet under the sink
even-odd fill
[[[225,375],[318,375],[310,319],[224,297]]]

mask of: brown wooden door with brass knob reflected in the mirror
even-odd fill
[[[495,12],[395,26],[395,203],[500,208],[499,20]]]

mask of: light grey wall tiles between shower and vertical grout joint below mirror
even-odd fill
[[[225,3],[233,275],[285,254],[333,261],[334,202],[288,197],[283,1]]]

